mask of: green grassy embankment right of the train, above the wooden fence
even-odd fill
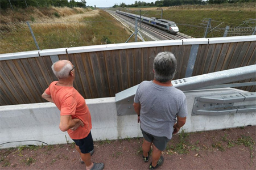
[[[207,37],[222,37],[225,28],[252,27],[255,28],[255,3],[235,3],[222,5],[184,5],[163,7],[163,19],[174,21],[181,33],[200,38],[204,37],[208,19],[213,31]],[[142,10],[143,16],[160,18],[161,8],[130,8],[129,11],[139,15]],[[251,20],[246,24],[243,21]],[[247,25],[248,24],[248,25]],[[210,31],[210,28],[208,29]],[[233,35],[234,36],[234,35]]]

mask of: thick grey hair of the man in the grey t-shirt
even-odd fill
[[[158,53],[154,59],[153,68],[155,79],[159,82],[168,82],[175,75],[177,60],[171,52]]]

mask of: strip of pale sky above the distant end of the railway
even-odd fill
[[[137,0],[139,2],[139,0]],[[155,2],[156,0],[141,0],[141,2]],[[96,5],[96,7],[112,7],[116,3],[119,5],[120,3],[125,3],[126,5],[134,4],[135,0],[86,0],[86,6],[93,6]]]

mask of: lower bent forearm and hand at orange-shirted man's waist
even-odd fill
[[[84,126],[84,123],[78,118],[72,119],[71,115],[60,116],[59,127],[61,131],[67,131],[68,129],[76,130],[80,125]]]

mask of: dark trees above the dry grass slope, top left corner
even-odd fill
[[[1,0],[0,7],[1,9],[6,8],[26,8],[29,6],[34,7],[86,7],[86,1],[81,0],[81,2],[76,2],[75,0]]]

